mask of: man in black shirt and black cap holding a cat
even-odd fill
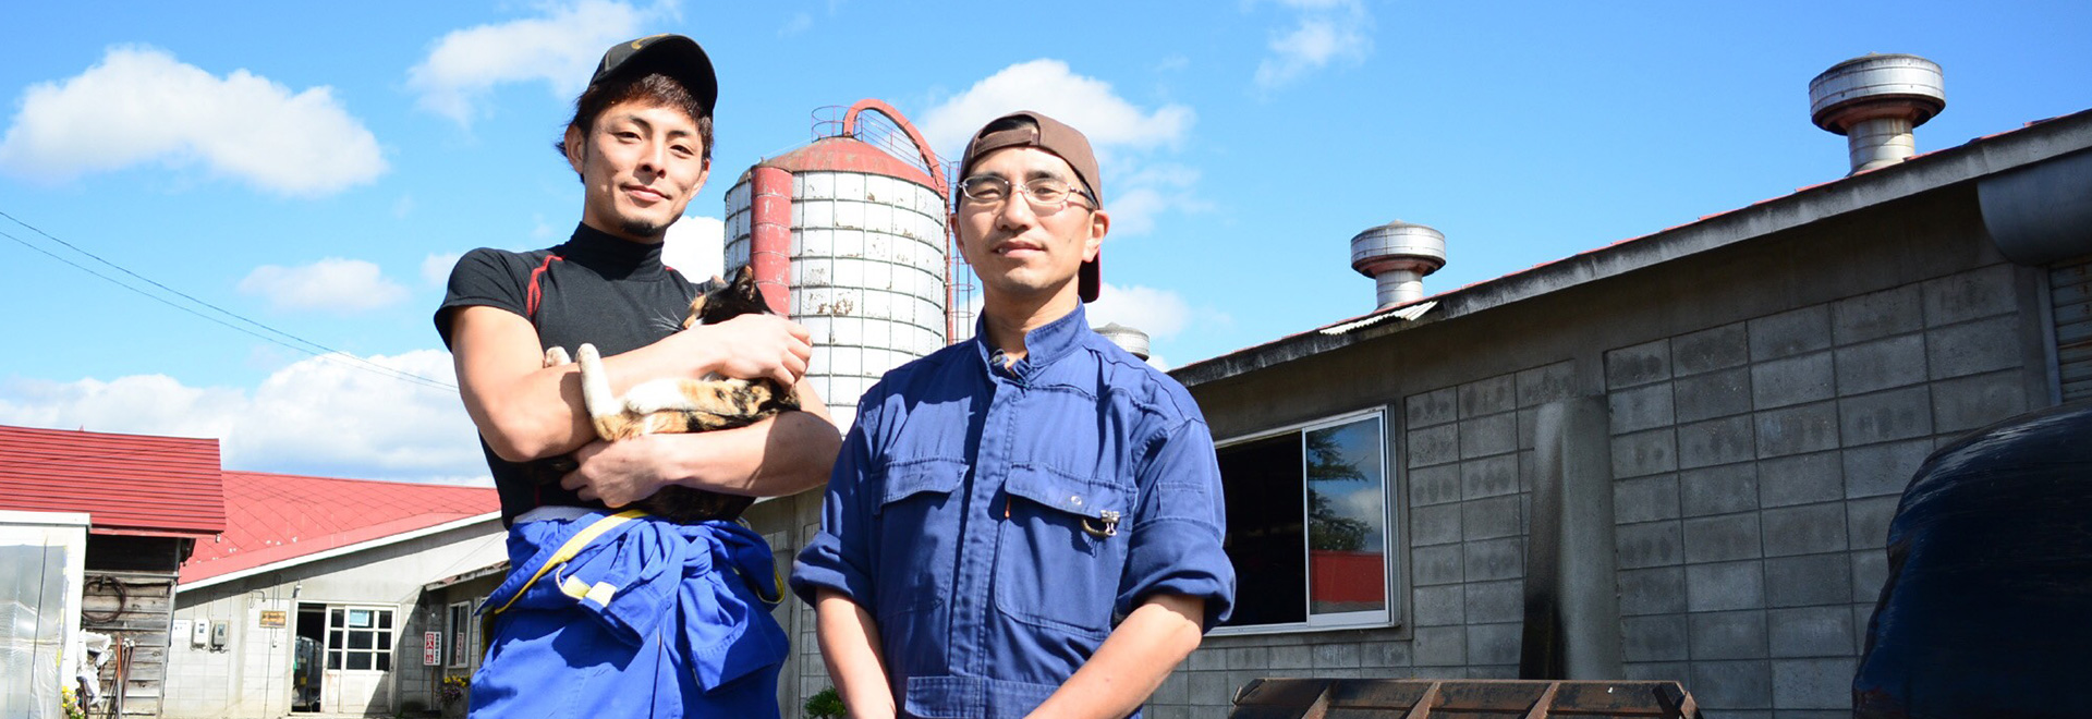
[[[805,328],[774,316],[680,328],[699,288],[661,265],[661,240],[711,169],[715,98],[697,42],[613,46],[559,142],[584,186],[573,236],[533,253],[477,249],[452,270],[435,324],[494,470],[513,564],[487,600],[498,619],[473,717],[778,713],[784,635],[768,614],[778,587],[761,537],[611,514],[665,485],[810,489],[841,443],[801,382]],[[575,366],[544,368],[546,347],[582,343],[602,351],[617,393],[665,376],[776,378],[797,387],[803,412],[602,443]],[[523,470],[567,454],[577,468],[556,485]]]

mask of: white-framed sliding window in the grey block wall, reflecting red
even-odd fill
[[[1381,414],[1364,412],[1218,447],[1236,573],[1222,627],[1389,621],[1385,437]]]

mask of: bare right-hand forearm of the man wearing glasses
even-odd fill
[[[1117,719],[1134,713],[1199,648],[1203,621],[1201,598],[1151,596],[1031,717]]]

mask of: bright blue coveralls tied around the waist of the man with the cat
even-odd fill
[[[776,717],[784,629],[770,546],[738,523],[525,516],[487,596],[471,717]],[[563,552],[565,550],[565,552]],[[561,554],[571,554],[561,560]]]

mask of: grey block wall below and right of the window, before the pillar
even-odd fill
[[[1556,362],[1425,391],[1383,416],[1400,472],[1389,491],[1408,497],[1408,527],[1391,527],[1408,537],[1389,566],[1393,589],[1408,592],[1400,625],[1207,635],[1144,715],[1226,717],[1257,677],[1517,677],[1533,422],[1573,393],[1573,370]]]

